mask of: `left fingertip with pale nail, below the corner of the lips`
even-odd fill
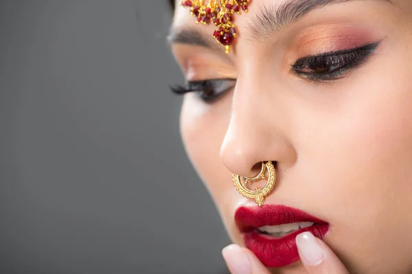
[[[229,245],[222,250],[222,255],[231,274],[270,274],[249,249]]]

